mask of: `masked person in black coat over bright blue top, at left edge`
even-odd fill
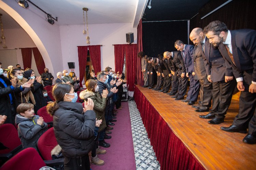
[[[27,82],[22,86],[17,86],[17,77],[11,81],[4,77],[2,65],[0,65],[0,114],[6,115],[5,123],[14,124],[16,116],[17,101],[15,94],[20,94],[26,87],[30,87],[31,82]]]

